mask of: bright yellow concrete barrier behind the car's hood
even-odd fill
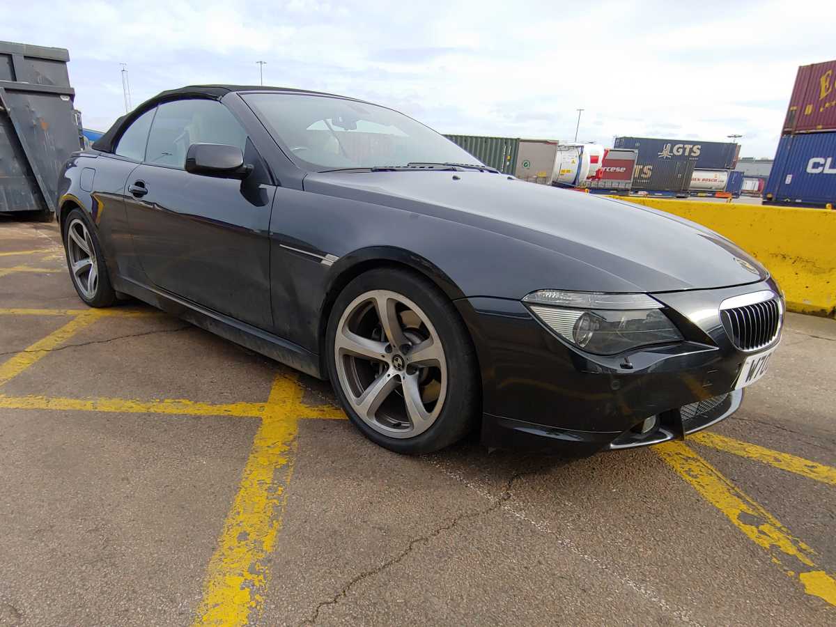
[[[836,212],[612,196],[674,213],[724,235],[767,267],[801,314],[836,318]]]

